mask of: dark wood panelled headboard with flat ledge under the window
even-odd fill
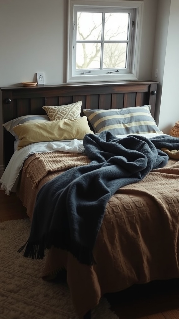
[[[155,118],[158,82],[9,86],[0,88],[3,123],[22,115],[46,114],[44,105],[64,105],[82,100],[82,109],[111,109],[151,105]],[[82,113],[83,115],[83,113]],[[157,123],[158,124],[158,123]],[[14,137],[3,128],[4,168],[13,154]]]

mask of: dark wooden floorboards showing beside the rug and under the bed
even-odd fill
[[[0,222],[26,218],[18,197],[0,191]],[[179,319],[179,279],[134,285],[106,298],[119,319]]]

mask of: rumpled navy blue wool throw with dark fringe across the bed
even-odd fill
[[[110,197],[122,186],[142,180],[164,167],[179,150],[179,138],[137,135],[117,138],[109,131],[86,134],[83,140],[91,162],[74,167],[47,182],[39,191],[25,257],[43,258],[53,245],[70,251],[80,263],[92,265],[92,250]]]

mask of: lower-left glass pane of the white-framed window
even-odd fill
[[[76,69],[100,69],[101,43],[76,44]]]

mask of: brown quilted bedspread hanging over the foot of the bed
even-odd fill
[[[28,158],[25,167],[36,159],[34,155]],[[48,167],[50,164],[45,161]],[[23,170],[18,196],[31,219],[38,190],[60,173],[58,168],[47,168],[34,187],[33,178]],[[104,293],[117,292],[134,283],[179,277],[178,233],[179,161],[169,160],[165,167],[151,171],[138,183],[120,188],[111,197],[93,251],[96,265],[80,264],[70,253],[52,248],[43,278],[50,279],[60,269],[67,270],[73,304],[82,318]]]

